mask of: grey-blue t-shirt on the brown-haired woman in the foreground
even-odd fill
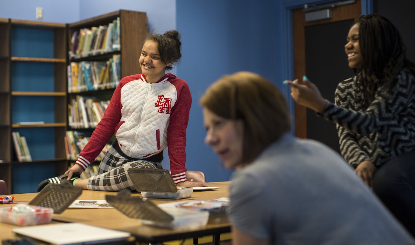
[[[413,244],[344,159],[288,133],[234,173],[229,220],[272,244]]]

